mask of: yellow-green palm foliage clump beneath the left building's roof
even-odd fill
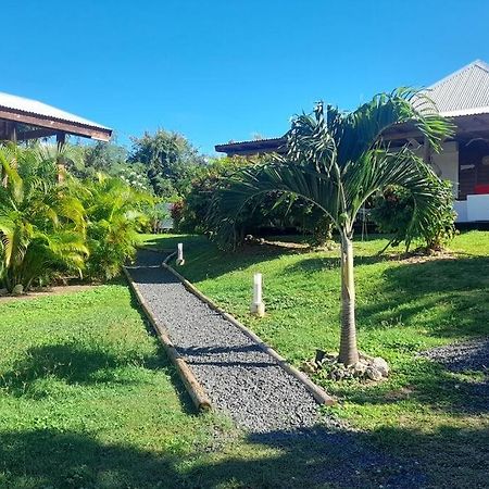
[[[0,284],[9,291],[73,275],[109,279],[134,255],[154,198],[121,178],[80,180],[60,168],[78,156],[67,145],[0,148]]]

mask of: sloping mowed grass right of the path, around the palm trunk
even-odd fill
[[[292,363],[335,351],[339,341],[338,251],[268,246],[220,252],[196,236],[147,236],[160,249],[184,242],[189,280],[239,317]],[[455,238],[452,256],[378,255],[385,239],[355,241],[359,344],[387,359],[388,381],[316,381],[338,397],[331,409],[374,446],[412,460],[432,487],[487,487],[489,399],[484,373],[451,374],[416,354],[489,335],[489,233]],[[267,315],[248,311],[254,272],[264,275]],[[486,374],[487,375],[487,374]],[[487,389],[484,391],[487,393]]]

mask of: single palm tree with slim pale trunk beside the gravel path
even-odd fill
[[[381,93],[353,112],[343,113],[322,103],[313,115],[294,118],[288,133],[288,152],[274,162],[246,167],[215,193],[209,214],[215,239],[235,238],[234,224],[250,200],[271,191],[302,197],[317,205],[340,236],[341,335],[338,362],[359,361],[353,278],[353,223],[373,193],[388,186],[406,189],[414,201],[408,240],[439,218],[446,192],[430,166],[408,145],[392,149],[383,139],[386,129],[413,124],[435,151],[451,125],[438,115],[421,92],[398,89]]]

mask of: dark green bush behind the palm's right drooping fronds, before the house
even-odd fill
[[[449,180],[434,180],[439,199],[439,216],[413,235],[424,241],[426,250],[441,250],[455,235],[455,212],[453,211],[452,184]],[[374,200],[369,217],[381,233],[393,235],[390,244],[410,242],[408,235],[413,220],[414,200],[402,187],[390,186]]]

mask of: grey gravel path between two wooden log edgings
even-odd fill
[[[158,253],[140,250],[137,266],[128,272],[213,404],[252,432],[315,425],[318,405],[305,387],[159,267],[162,260]],[[329,423],[338,425],[334,419]]]

